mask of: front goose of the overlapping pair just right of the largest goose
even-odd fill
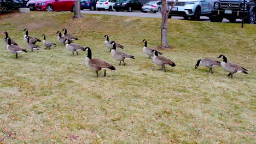
[[[113,45],[113,48],[111,50],[111,55],[114,57],[115,60],[119,61],[119,65],[121,65],[121,61],[124,62],[125,59],[130,59],[130,58],[133,58],[135,59],[134,56],[128,54],[128,53],[125,53],[123,51],[116,51],[116,44],[115,44],[115,41],[111,41],[111,43]],[[125,62],[124,62],[124,65],[125,65]]]

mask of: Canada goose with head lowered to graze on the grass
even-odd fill
[[[215,59],[212,59],[212,58],[199,59],[195,65],[195,69],[197,67],[199,67],[199,64],[202,64],[203,66],[205,66],[207,68],[210,68],[210,73],[212,72],[212,74],[213,74],[212,68],[218,67],[220,65],[220,62],[216,61]]]

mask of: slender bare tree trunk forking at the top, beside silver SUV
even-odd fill
[[[172,9],[174,8],[174,5],[178,2],[178,0],[175,0],[175,2],[168,0],[162,0],[162,25],[161,25],[161,46],[169,48],[168,45],[168,16],[171,13]]]

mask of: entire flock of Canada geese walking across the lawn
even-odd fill
[[[99,58],[92,58],[90,47],[83,47],[82,45],[73,43],[73,41],[78,40],[78,38],[74,37],[73,35],[67,34],[67,29],[64,28],[62,31],[64,31],[63,34],[61,34],[60,31],[57,32],[58,34],[57,41],[59,41],[59,43],[61,43],[63,46],[66,46],[66,48],[69,51],[71,51],[73,55],[74,55],[74,52],[76,52],[78,55],[78,51],[87,51],[88,56],[85,58],[85,64],[90,70],[96,71],[97,76],[98,76],[98,71],[100,70],[104,70],[104,76],[106,76],[106,69],[115,70],[115,67],[112,64],[109,64],[108,62],[103,61],[102,59],[99,59]],[[41,40],[32,36],[29,36],[27,29],[24,29],[24,32],[25,32],[24,40],[26,41],[27,47],[31,50],[31,52],[33,50],[39,50],[40,47],[37,46],[36,43],[40,42]],[[5,34],[4,43],[7,45],[7,50],[10,53],[16,54],[15,55],[16,58],[18,58],[18,53],[27,52],[26,49],[23,49],[13,39],[11,39],[7,32],[4,32],[4,34]],[[43,37],[43,45],[45,46],[45,49],[50,49],[50,47],[56,46],[55,43],[52,43],[51,41],[46,41],[45,34],[43,34],[42,37]],[[115,41],[109,41],[108,35],[104,35],[104,37],[106,38],[106,40],[104,41],[104,44],[110,50],[109,52],[111,52],[111,55],[113,56],[113,58],[119,61],[119,65],[121,65],[122,61],[125,65],[124,61],[126,59],[135,59],[135,57],[130,55],[129,53],[126,53],[124,51],[117,51],[117,47],[119,47],[120,49],[124,49],[123,45],[120,45]],[[144,39],[143,42],[144,42],[143,52],[146,53],[146,55],[148,55],[149,58],[153,57],[152,61],[156,65],[161,66],[161,70],[164,69],[164,71],[166,71],[166,68],[165,68],[166,65],[171,65],[172,67],[176,66],[176,64],[172,62],[170,59],[164,56],[161,56],[162,55],[161,52],[153,48],[147,47],[146,39]],[[199,59],[195,64],[195,69],[199,67],[199,64],[201,64],[207,68],[210,68],[210,73],[213,73],[212,68],[218,67],[219,65],[221,65],[225,71],[228,71],[229,73],[228,76],[232,77],[234,73],[248,74],[247,69],[241,67],[236,63],[228,62],[228,59],[224,55],[220,55],[218,58],[223,58],[223,62],[219,62],[213,58]]]

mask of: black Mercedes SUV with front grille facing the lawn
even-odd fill
[[[246,1],[245,6],[243,0],[222,0],[214,2],[214,9],[212,10],[211,21],[222,22],[223,18],[228,19],[229,22],[235,22],[236,19],[242,19],[243,9],[245,8],[245,22],[255,21],[255,0]],[[254,16],[253,16],[254,15]]]

